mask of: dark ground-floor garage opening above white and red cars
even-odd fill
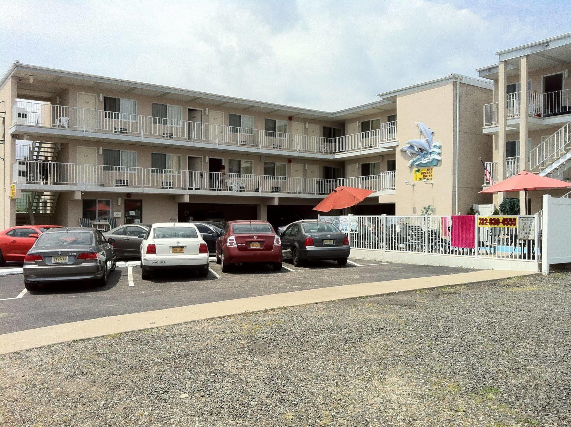
[[[179,221],[235,221],[258,218],[256,205],[224,203],[179,203]]]

